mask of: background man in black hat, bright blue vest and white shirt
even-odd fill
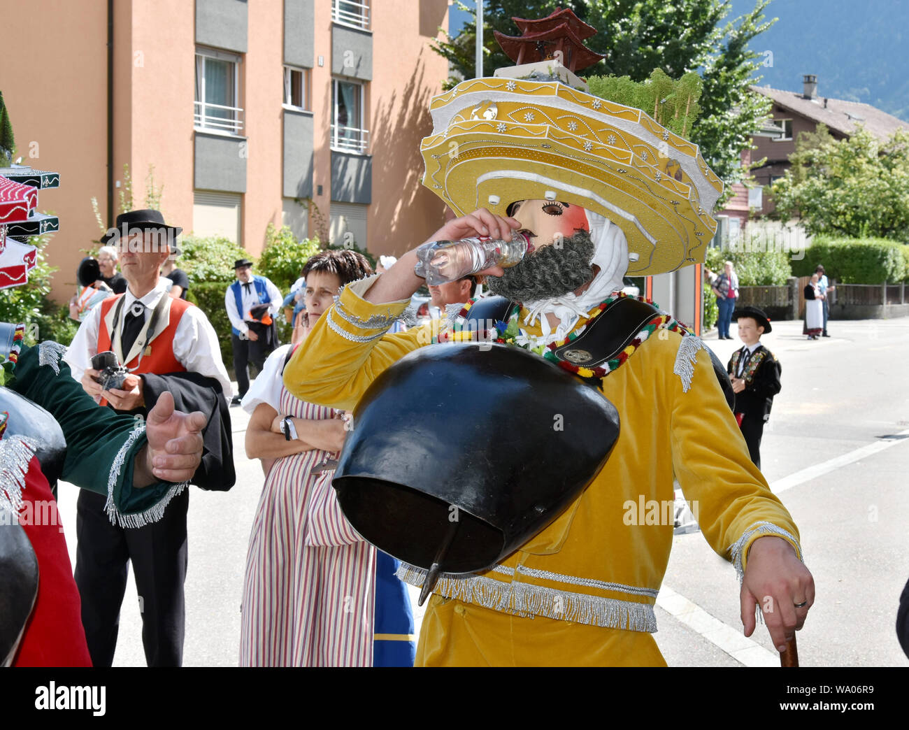
[[[253,262],[249,259],[235,261],[236,281],[225,292],[239,390],[231,405],[238,405],[249,389],[248,365],[255,365],[261,373],[265,358],[279,345],[274,317],[281,311],[284,298],[265,276],[253,275],[252,268]]]

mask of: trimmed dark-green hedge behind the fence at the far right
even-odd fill
[[[844,284],[909,281],[909,245],[884,238],[815,236],[804,259],[793,262],[793,275],[810,276],[818,264],[827,278]]]

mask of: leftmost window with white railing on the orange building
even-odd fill
[[[195,128],[240,135],[243,109],[239,107],[240,57],[214,49],[195,53]]]

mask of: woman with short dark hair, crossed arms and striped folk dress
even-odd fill
[[[313,256],[304,268],[307,325],[341,285],[370,274],[354,251]],[[262,460],[266,476],[246,556],[240,665],[369,666],[375,548],[341,514],[333,473],[313,473],[344,445],[345,414],[287,392],[290,347],[269,356],[243,401],[252,413],[246,454]]]

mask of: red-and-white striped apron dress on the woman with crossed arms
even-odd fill
[[[282,387],[280,413],[320,420],[332,408]],[[333,472],[310,470],[336,454],[277,459],[253,522],[241,609],[241,666],[370,666],[375,547],[347,524]]]

